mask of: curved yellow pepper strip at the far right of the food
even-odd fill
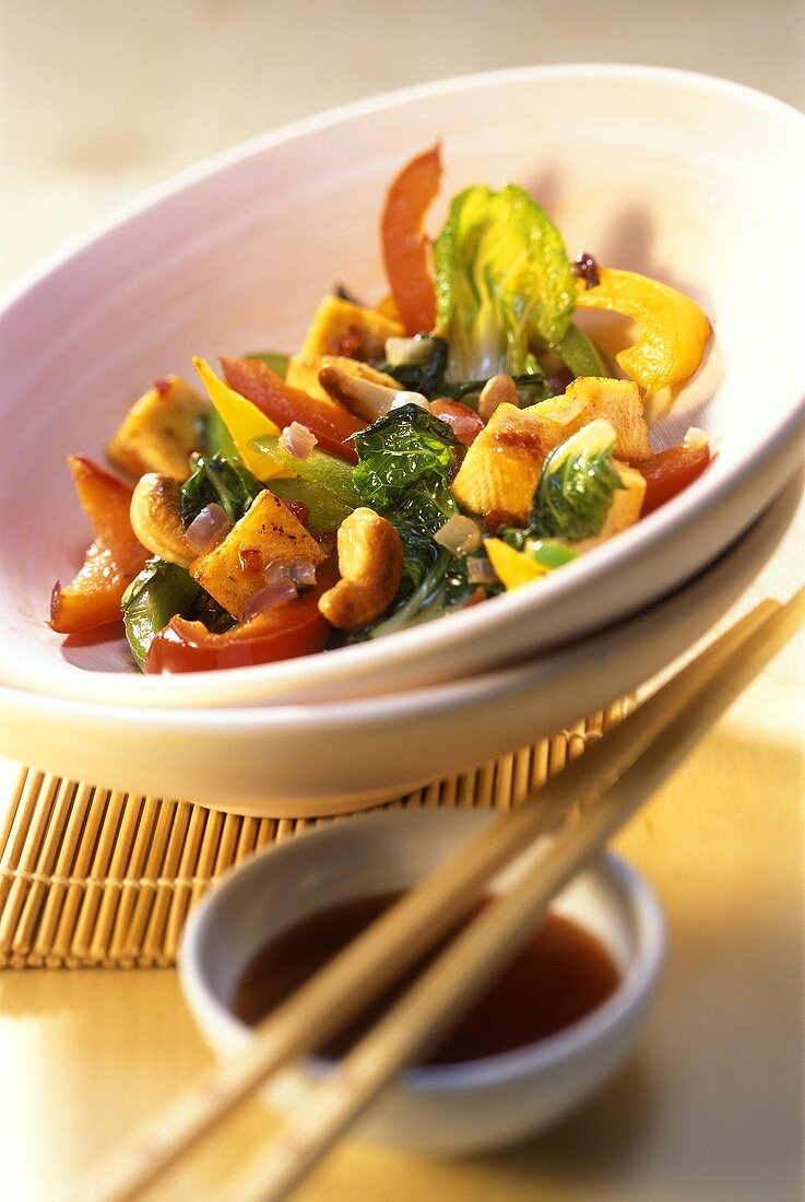
[[[633,317],[640,337],[615,358],[622,370],[645,388],[657,392],[693,375],[708,338],[710,322],[690,297],[636,272],[598,268],[596,287],[577,282],[578,309],[608,309]]]

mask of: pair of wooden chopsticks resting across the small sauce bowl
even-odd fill
[[[491,902],[360,1040],[237,1177],[232,1202],[278,1202],[298,1185],[382,1087],[437,1043],[509,960],[550,899],[592,859],[676,767],[727,704],[805,620],[805,589],[764,601],[619,726],[459,849],[255,1028],[249,1046],[207,1072],[109,1160],[74,1196],[126,1202],[290,1060],[322,1046],[464,917],[483,886],[533,851],[579,804],[518,888]]]

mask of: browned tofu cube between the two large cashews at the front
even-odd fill
[[[318,567],[326,558],[302,522],[266,489],[223,542],[191,564],[190,572],[219,605],[242,619],[246,603],[266,588],[263,570],[272,560],[303,559]]]

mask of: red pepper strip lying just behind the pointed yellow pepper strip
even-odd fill
[[[345,440],[364,429],[366,423],[338,401],[321,400],[300,388],[292,388],[261,359],[222,358],[221,367],[229,387],[257,405],[280,429],[300,422],[312,430],[322,451],[347,463],[358,462],[354,447]]]

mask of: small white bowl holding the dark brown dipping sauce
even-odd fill
[[[229,1008],[256,952],[305,916],[371,893],[405,889],[493,815],[419,810],[370,815],[279,844],[231,873],[193,912],[179,971],[185,998],[213,1049],[249,1043]],[[517,870],[520,867],[517,865]],[[515,887],[501,876],[495,889]],[[615,993],[557,1035],[503,1055],[410,1069],[353,1137],[430,1153],[476,1153],[549,1126],[597,1089],[631,1052],[664,954],[664,924],[646,882],[615,856],[590,865],[554,903],[596,934],[621,972]],[[322,1061],[266,1091],[274,1108],[305,1106]]]

